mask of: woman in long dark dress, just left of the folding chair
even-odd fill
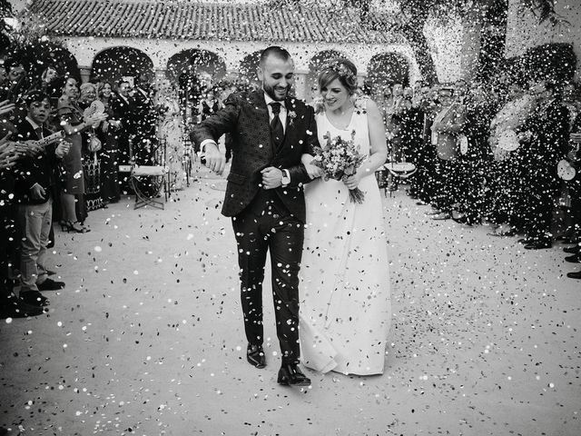
[[[118,203],[121,199],[119,189],[118,137],[121,122],[113,112],[113,86],[103,82],[98,90],[99,100],[105,107],[107,119],[97,129],[101,140],[101,196],[104,203]]]

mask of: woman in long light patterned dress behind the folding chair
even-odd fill
[[[170,190],[181,190],[185,180],[183,124],[178,94],[169,80],[163,80],[160,84],[155,95],[155,107],[159,114],[157,137],[165,141],[167,147],[166,162]]]

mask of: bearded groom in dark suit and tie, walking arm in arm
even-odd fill
[[[272,293],[282,364],[278,382],[307,386],[299,368],[299,268],[305,223],[303,183],[309,174],[303,153],[318,145],[313,110],[289,96],[294,80],[291,55],[272,46],[261,54],[262,89],[232,94],[219,113],[193,127],[206,166],[222,173],[225,162],[216,142],[232,137],[231,172],[222,207],[230,216],[238,245],[241,304],[248,339],[247,360],[266,365],[262,349],[262,282],[271,252]]]

